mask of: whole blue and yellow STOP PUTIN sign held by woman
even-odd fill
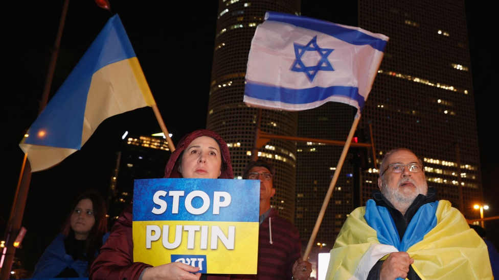
[[[257,180],[135,180],[133,261],[256,274],[259,198]]]

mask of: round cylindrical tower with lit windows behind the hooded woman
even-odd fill
[[[250,161],[255,138],[257,109],[247,107],[242,99],[251,40],[266,11],[299,14],[300,0],[219,0],[218,4],[207,129],[219,133],[229,144],[236,177],[242,175]],[[262,111],[262,131],[296,136],[296,113]],[[278,172],[273,207],[279,209],[281,216],[293,221],[296,144],[271,140],[260,149],[259,157],[272,162]]]

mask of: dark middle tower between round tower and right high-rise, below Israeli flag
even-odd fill
[[[355,112],[356,109],[349,105],[331,102],[319,108],[300,112],[299,136],[346,141]],[[302,240],[308,240],[321,211],[343,146],[307,142],[298,143],[297,148],[295,224],[300,230]],[[332,246],[332,241],[341,229],[346,215],[354,206],[358,206],[358,202],[354,205],[354,181],[358,178],[358,174],[354,176],[353,160],[353,155],[349,153],[317,233],[317,242]]]

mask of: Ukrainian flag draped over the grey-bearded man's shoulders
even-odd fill
[[[371,213],[366,215],[386,214],[381,208],[370,200],[350,214],[331,250],[326,279],[366,279],[378,260],[399,250],[414,259],[412,266],[423,280],[492,279],[487,246],[449,201],[423,205],[402,241],[391,219],[382,224]],[[428,213],[434,214],[428,217]]]

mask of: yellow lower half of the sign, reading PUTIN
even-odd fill
[[[133,261],[153,266],[180,261],[205,273],[256,274],[258,228],[258,222],[134,221]]]

